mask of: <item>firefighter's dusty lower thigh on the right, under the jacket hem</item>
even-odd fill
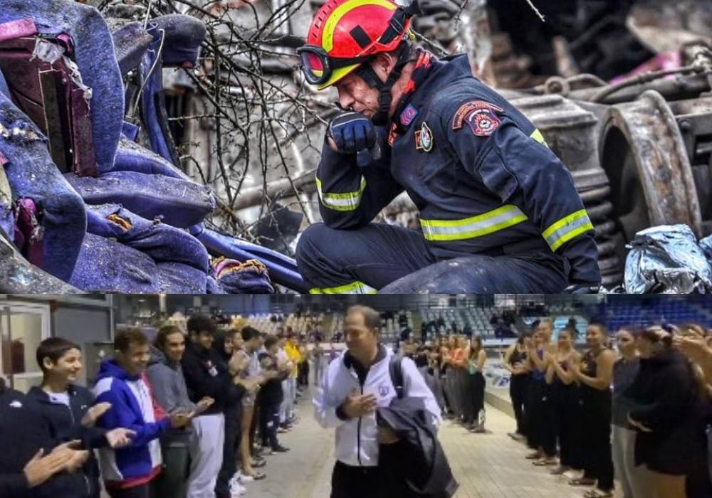
[[[473,294],[545,292],[568,285],[565,262],[558,255],[539,257],[472,255],[441,261],[380,290],[382,294]]]

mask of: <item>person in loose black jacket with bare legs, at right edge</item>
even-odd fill
[[[637,430],[636,465],[651,470],[651,498],[709,497],[705,418],[709,400],[692,364],[672,348],[671,334],[640,334],[640,369],[626,391]]]

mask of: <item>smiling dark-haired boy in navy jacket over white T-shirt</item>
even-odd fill
[[[54,442],[78,440],[85,450],[130,444],[130,431],[94,427],[96,418],[110,406],[92,407],[92,393],[73,384],[82,369],[79,346],[61,337],[52,337],[41,342],[36,356],[43,373],[42,385],[31,388],[28,398],[35,403]],[[99,498],[99,466],[93,452],[83,468],[65,480],[70,490],[68,496]]]

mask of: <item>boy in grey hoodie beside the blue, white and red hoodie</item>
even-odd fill
[[[213,403],[204,398],[193,403],[183,377],[180,361],[185,351],[185,334],[178,327],[167,325],[158,331],[146,376],[156,401],[167,413],[201,413]],[[164,469],[159,476],[155,496],[185,498],[189,479],[189,440],[191,428],[172,430],[161,437]]]

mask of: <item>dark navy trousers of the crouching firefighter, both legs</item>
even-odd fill
[[[568,285],[564,258],[545,247],[525,258],[471,255],[436,263],[421,232],[378,223],[356,230],[310,226],[296,259],[305,282],[318,289],[357,281],[397,294],[557,294]]]

